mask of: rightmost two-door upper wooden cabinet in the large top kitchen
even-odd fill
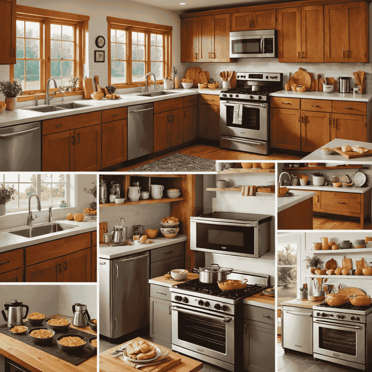
[[[365,1],[324,5],[325,62],[369,62],[368,13]]]

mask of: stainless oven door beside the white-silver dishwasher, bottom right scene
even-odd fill
[[[365,324],[313,320],[313,352],[328,357],[365,363]]]

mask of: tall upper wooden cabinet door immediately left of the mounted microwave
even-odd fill
[[[212,62],[230,62],[230,14],[212,16]]]

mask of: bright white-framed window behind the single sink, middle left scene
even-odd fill
[[[28,210],[28,199],[31,194],[36,194],[42,208],[49,206],[59,207],[61,200],[65,204],[70,204],[70,176],[68,174],[51,173],[51,174],[17,174],[9,172],[1,174],[1,187],[12,186],[16,189],[13,197],[7,203],[8,212]],[[32,201],[35,205],[35,201]]]

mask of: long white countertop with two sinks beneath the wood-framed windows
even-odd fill
[[[90,106],[79,108],[79,109],[60,110],[60,111],[53,111],[53,112],[35,112],[35,111],[25,110],[25,108],[19,108],[14,111],[4,110],[0,114],[0,128],[3,128],[4,126],[9,126],[9,125],[30,123],[30,122],[42,121],[42,120],[47,120],[47,119],[52,119],[52,118],[60,118],[63,116],[76,115],[76,114],[93,112],[93,111],[98,111],[98,110],[113,109],[113,108],[132,106],[132,105],[142,105],[144,103],[161,101],[164,99],[171,99],[171,98],[177,98],[177,97],[192,96],[193,94],[199,94],[199,93],[219,95],[219,92],[221,92],[221,90],[222,88],[215,89],[215,90],[209,90],[209,89],[199,90],[198,88],[167,89],[165,91],[171,92],[172,94],[165,94],[163,96],[157,96],[157,97],[138,96],[139,93],[136,93],[136,92],[121,93],[119,94],[120,99],[118,99],[117,101],[107,100],[105,98],[102,98],[100,100],[94,100],[92,98],[91,99],[78,99],[78,100],[71,100],[71,101],[69,100],[69,101],[66,101],[66,103],[77,102],[83,105],[90,105]],[[153,90],[151,90],[151,92],[153,92]],[[30,106],[27,106],[27,108],[35,107],[33,105],[34,101],[29,101],[29,104]],[[61,98],[55,98],[53,101],[51,101],[51,105],[58,106],[58,104],[61,104]],[[39,105],[38,107],[43,107],[43,106],[45,105]]]

